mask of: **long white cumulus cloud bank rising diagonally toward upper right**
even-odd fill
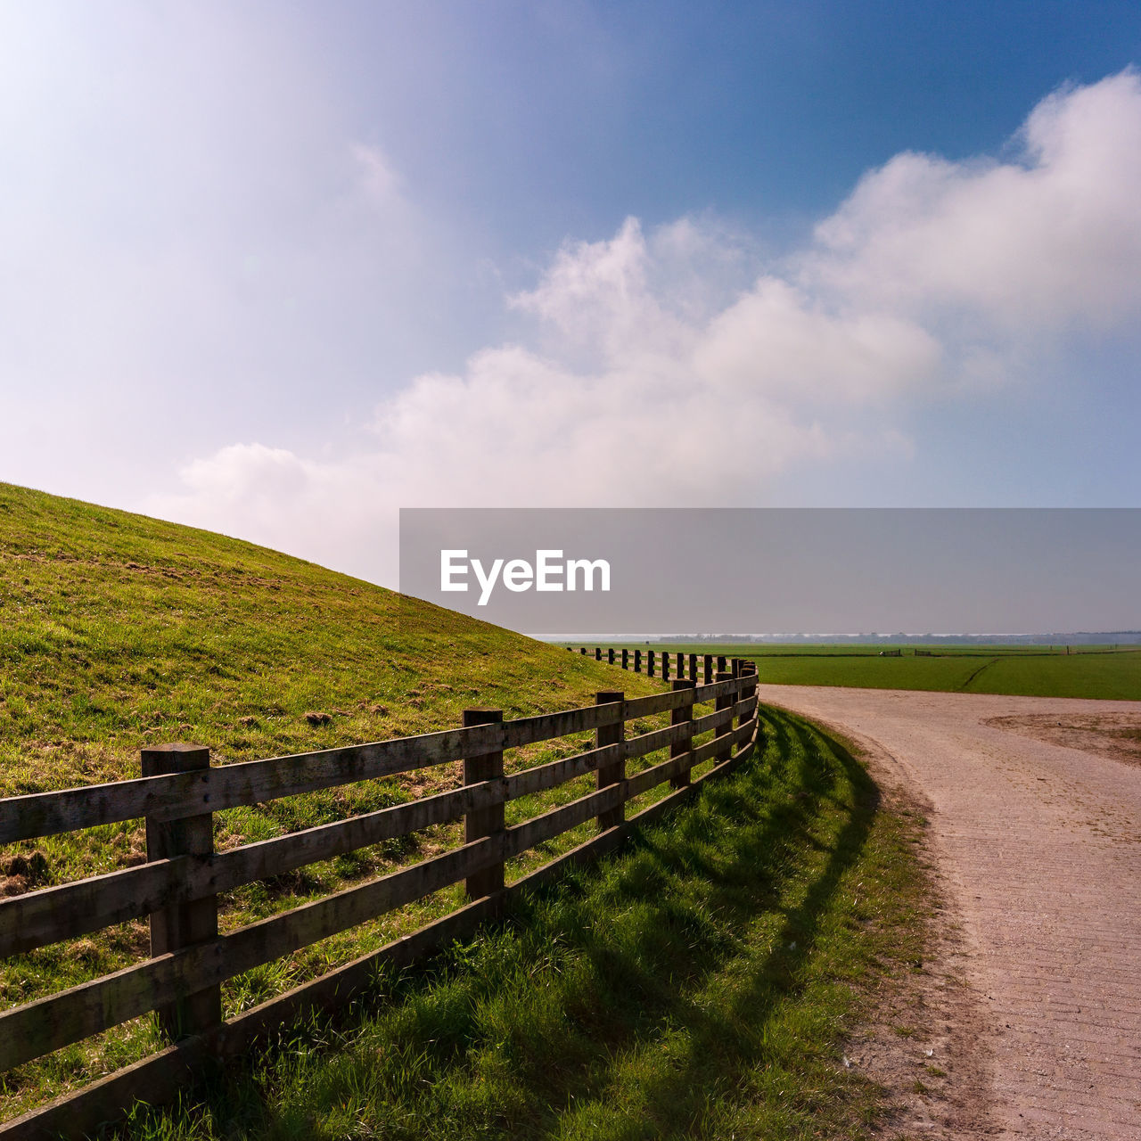
[[[398,507],[741,505],[796,464],[903,462],[908,408],[1136,326],[1141,80],[1051,95],[1003,161],[897,155],[742,288],[748,264],[709,219],[568,242],[508,299],[532,340],[413,379],[351,456],[225,448],[153,507],[391,581]]]

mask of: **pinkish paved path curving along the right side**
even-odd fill
[[[1141,703],[804,686],[761,699],[885,752],[932,803],[998,1135],[1141,1139],[1141,767],[984,723]]]

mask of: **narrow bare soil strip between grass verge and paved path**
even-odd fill
[[[893,758],[871,747],[859,751],[880,786],[884,808],[924,822],[917,855],[929,877],[932,914],[925,957],[911,964],[904,977],[884,980],[875,1018],[849,1039],[844,1065],[887,1094],[880,1136],[963,1141],[996,1133],[982,1004],[968,981],[968,961],[976,952],[968,945],[932,850],[926,823],[931,804],[911,782],[904,783]]]

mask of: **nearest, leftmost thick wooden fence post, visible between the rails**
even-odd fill
[[[160,745],[141,752],[143,776],[193,772],[210,768],[210,750],[199,745]],[[184,816],[178,820],[146,818],[148,860],[176,856],[213,855],[213,815]],[[151,913],[151,957],[209,942],[218,938],[218,897],[170,904]],[[196,990],[156,1009],[159,1026],[173,1041],[203,1034],[221,1022],[221,988]]]

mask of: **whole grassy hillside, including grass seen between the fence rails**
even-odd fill
[[[0,484],[0,795],[139,775],[139,748],[208,745],[212,763],[327,748],[591,704],[614,671],[565,650],[274,551]],[[623,678],[630,694],[654,691]],[[309,717],[307,714],[319,714]],[[657,721],[647,721],[646,728]],[[517,750],[513,767],[582,738]],[[646,759],[646,763],[659,760]],[[216,847],[281,835],[451,787],[456,764],[288,798],[216,817]],[[558,796],[512,811],[541,811]],[[574,842],[574,836],[564,841]],[[458,840],[456,826],[229,892],[222,930],[327,895]],[[558,850],[548,848],[545,858]],[[518,875],[540,859],[519,860]],[[141,822],[0,848],[0,891],[49,887],[145,859]],[[227,1015],[451,909],[459,889],[226,984]],[[146,957],[145,922],[0,964],[15,1005]],[[161,1043],[149,1019],[2,1077],[0,1118],[132,1061]]]

